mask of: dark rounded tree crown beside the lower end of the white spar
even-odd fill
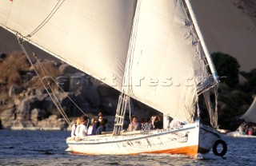
[[[211,53],[215,68],[219,77],[227,77],[226,84],[230,88],[238,85],[238,73],[240,65],[238,61],[226,53]]]

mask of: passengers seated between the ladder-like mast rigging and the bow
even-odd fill
[[[167,128],[176,128],[182,123],[178,120],[170,118],[170,124],[167,125]],[[131,122],[127,128],[127,131],[136,131],[136,130],[151,130],[151,129],[162,129],[163,128],[163,120],[162,120],[162,114],[154,115],[151,118],[145,118],[142,117],[138,122],[137,122],[137,117],[132,116],[130,118]]]

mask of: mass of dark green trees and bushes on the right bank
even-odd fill
[[[250,107],[256,93],[256,69],[239,72],[238,61],[226,53],[212,53],[221,78],[218,86],[218,123],[220,128],[235,130],[242,123],[239,118]],[[240,77],[245,81],[239,82]]]

